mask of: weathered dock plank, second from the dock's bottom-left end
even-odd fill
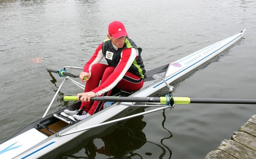
[[[218,147],[219,150],[222,150],[237,159],[251,159],[256,156],[256,151],[249,149],[248,147],[243,146],[240,143],[232,140],[224,140],[221,142]]]

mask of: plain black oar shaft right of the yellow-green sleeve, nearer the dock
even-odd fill
[[[256,104],[256,100],[255,100],[255,99],[210,99],[210,98],[190,98],[190,103]]]

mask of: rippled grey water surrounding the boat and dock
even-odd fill
[[[256,99],[255,8],[243,0],[0,0],[0,141],[44,115],[62,82],[45,69],[83,67],[114,20],[143,48],[147,70],[246,29],[236,45],[174,83],[174,95]],[[49,113],[80,91],[66,82]],[[98,128],[55,158],[203,158],[255,112],[255,105],[177,105]]]

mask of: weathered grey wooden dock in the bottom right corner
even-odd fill
[[[256,159],[256,115],[253,115],[231,140],[221,142],[205,159]]]

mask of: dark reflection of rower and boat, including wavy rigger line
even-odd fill
[[[163,112],[164,120],[162,126],[166,121],[165,113]],[[114,129],[110,133],[104,131],[101,134],[96,135],[91,139],[84,139],[76,145],[70,152],[64,153],[62,158],[115,158],[115,159],[132,159],[132,158],[148,158],[149,156],[158,156],[157,158],[171,158],[172,151],[163,144],[165,139],[172,137],[172,133],[167,130],[170,136],[161,139],[157,144],[151,141],[147,141],[146,135],[143,133],[143,129],[146,126],[146,122],[142,121],[143,116],[134,117],[126,122],[119,122],[118,127],[112,125],[108,129]],[[91,134],[91,133],[89,133]],[[103,134],[103,136],[101,136]],[[86,141],[87,140],[87,141]],[[156,147],[153,151],[148,147]],[[162,150],[157,150],[160,148]],[[144,151],[143,151],[144,150]],[[169,152],[169,157],[166,157]],[[153,154],[154,153],[154,154]],[[159,154],[160,153],[160,154]]]

